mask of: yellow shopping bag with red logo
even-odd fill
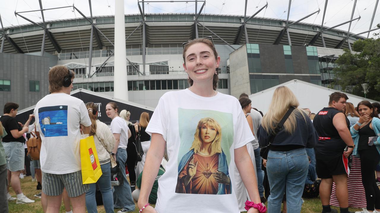
[[[96,183],[103,174],[93,136],[81,139],[81,165],[83,184]]]

